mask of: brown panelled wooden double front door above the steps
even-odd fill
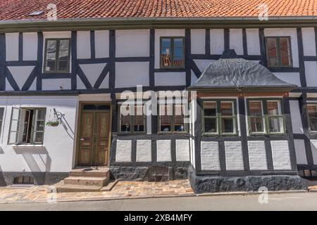
[[[107,165],[110,110],[102,106],[82,105],[77,166]]]

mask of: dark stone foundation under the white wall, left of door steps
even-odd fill
[[[11,186],[17,176],[32,176],[35,185],[52,185],[69,176],[68,172],[0,172],[0,186]]]

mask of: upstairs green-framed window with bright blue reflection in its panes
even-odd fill
[[[184,37],[161,37],[160,67],[185,68]]]

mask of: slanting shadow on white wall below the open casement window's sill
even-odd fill
[[[49,172],[51,170],[51,157],[44,146],[14,146],[13,150],[15,150],[16,154],[23,156],[31,172]],[[37,160],[35,158],[37,158]]]

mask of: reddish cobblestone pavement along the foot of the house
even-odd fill
[[[193,196],[189,181],[142,182],[119,181],[111,191],[49,193],[49,186],[0,188],[0,203],[56,203],[85,200],[113,200],[125,198],[159,198]]]

